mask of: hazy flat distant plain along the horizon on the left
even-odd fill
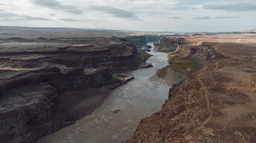
[[[126,37],[135,33],[115,30],[93,30],[68,27],[23,27],[0,26],[0,39],[24,38],[42,40],[42,38],[67,38],[67,37]],[[40,38],[41,37],[41,38]]]

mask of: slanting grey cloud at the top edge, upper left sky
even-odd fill
[[[42,0],[31,0],[31,2],[35,5],[38,5],[38,6],[47,7],[47,8],[54,9],[54,10],[55,9],[60,9],[60,10],[63,10],[65,12],[68,12],[68,13],[73,13],[73,14],[83,13],[82,10],[77,9],[74,6],[63,5],[60,2],[55,1],[55,0],[44,0],[44,1],[42,1]]]

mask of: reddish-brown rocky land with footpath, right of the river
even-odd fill
[[[256,35],[161,40],[160,48],[177,48],[169,70],[187,79],[170,88],[162,109],[141,120],[126,142],[256,142]]]

